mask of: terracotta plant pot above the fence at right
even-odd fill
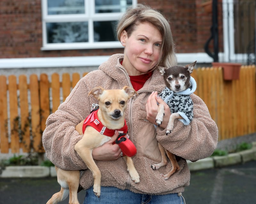
[[[223,69],[224,80],[239,79],[241,64],[226,63],[226,62],[212,62],[212,67],[221,67]]]

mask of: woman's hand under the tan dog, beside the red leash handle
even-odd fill
[[[112,144],[116,141],[119,133],[116,130],[115,135],[111,137],[111,140],[104,143],[100,147],[97,147],[92,150],[92,157],[95,160],[102,160],[102,161],[110,161],[116,160],[121,157],[121,149],[119,148],[118,144]]]

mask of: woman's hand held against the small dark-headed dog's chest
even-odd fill
[[[154,91],[151,93],[151,95],[148,97],[148,101],[146,104],[146,111],[147,111],[147,120],[149,122],[152,122],[153,124],[156,124],[156,115],[158,112],[158,105],[157,104],[163,104],[164,105],[164,118],[163,122],[160,125],[161,128],[166,128],[169,118],[171,115],[170,107],[163,101],[161,97],[157,95],[157,91]]]

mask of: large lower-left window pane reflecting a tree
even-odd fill
[[[88,22],[46,23],[47,43],[88,42]]]

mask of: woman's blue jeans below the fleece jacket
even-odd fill
[[[92,187],[86,190],[83,204],[184,204],[181,193],[148,195],[133,193],[116,187],[101,186],[101,193],[98,198],[92,190]]]

